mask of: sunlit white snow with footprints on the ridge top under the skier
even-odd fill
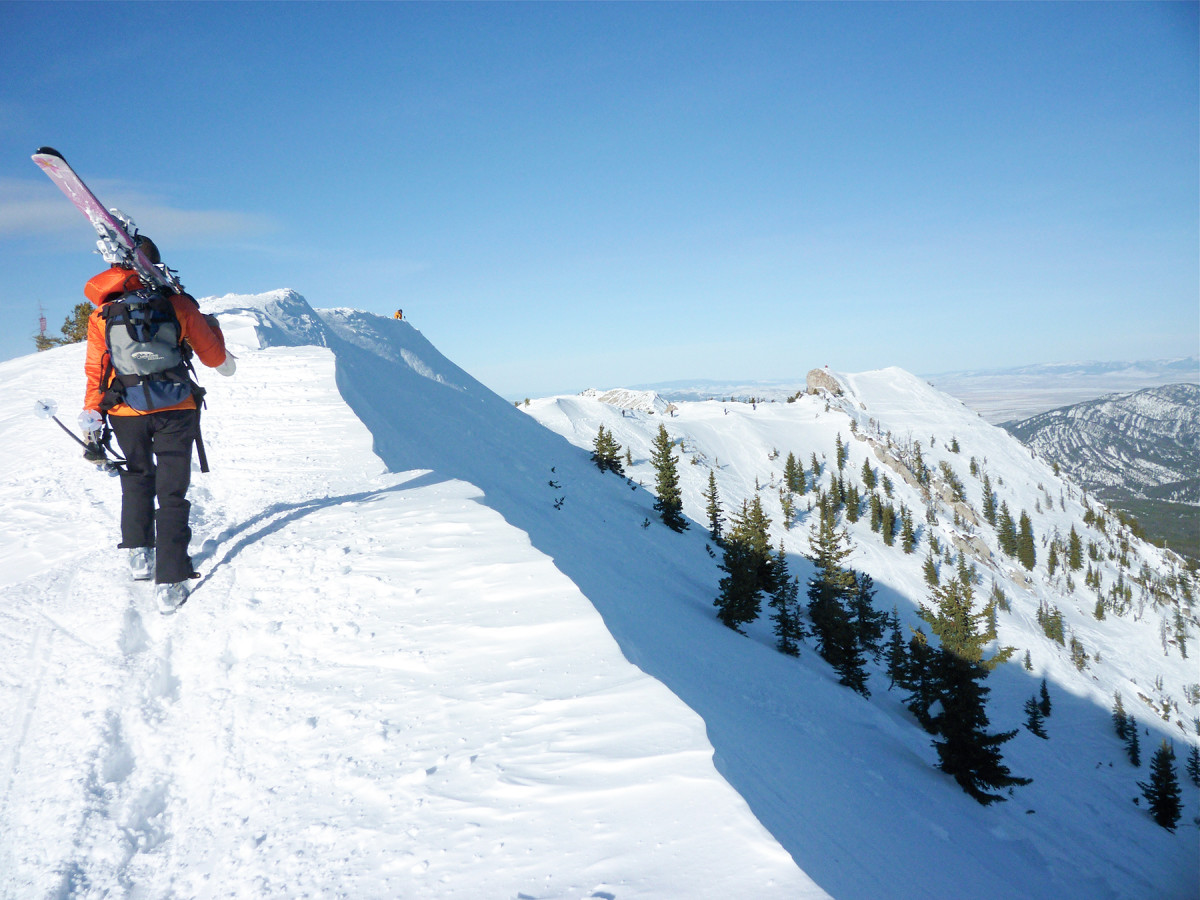
[[[823,895],[524,534],[246,329],[170,618],[115,479],[31,414],[82,347],[2,365],[0,896]]]

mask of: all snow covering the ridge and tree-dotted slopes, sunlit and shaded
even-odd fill
[[[56,395],[73,418],[82,348],[0,364],[0,896],[1195,894],[1195,792],[1176,834],[1154,826],[1109,722],[1121,691],[1147,756],[1168,737],[1182,761],[1195,739],[1166,607],[1135,594],[1097,622],[1081,578],[1066,593],[1040,541],[1081,522],[1078,490],[955,401],[887,371],[842,376],[828,409],[626,395],[534,401],[535,421],[408,323],[292,292],[202,306],[239,371],[203,378],[204,577],[170,619],[112,550],[115,481],[31,414]],[[652,484],[660,422],[683,443],[684,534],[588,460],[605,424]],[[994,725],[1018,727],[1043,677],[1054,698],[1049,740],[1004,746],[1033,784],[988,809],[934,768],[877,668],[863,700],[810,648],[776,653],[766,623],[744,637],[714,616],[708,472],[728,506],[757,481],[798,560],[808,514],[784,529],[776,509],[791,451],[828,473],[841,436],[847,472],[869,460],[923,512],[876,451],[888,432],[978,508],[974,456],[1037,530],[1032,575],[986,526],[942,515],[920,534],[982,547],[1010,598],[1000,638],[1033,671],[1014,659],[989,679]],[[916,624],[926,545],[852,533],[878,605]],[[1127,554],[1127,571],[1172,571]],[[1097,568],[1105,588],[1121,572]],[[1087,648],[1082,671],[1038,628],[1043,601]]]

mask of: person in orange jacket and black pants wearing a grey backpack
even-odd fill
[[[157,265],[154,244],[137,240]],[[88,319],[79,426],[91,444],[103,446],[109,432],[116,437],[125,456],[118,546],[128,550],[134,580],[154,578],[160,611],[174,612],[187,599],[187,580],[196,577],[187,552],[187,487],[204,391],[188,377],[188,359],[194,352],[223,376],[236,364],[216,318],[200,314],[188,294],[143,286],[121,265],[91,278],[84,294],[96,310]]]

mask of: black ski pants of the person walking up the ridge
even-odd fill
[[[191,578],[194,570],[187,545],[192,540],[188,524],[192,504],[187,502],[187,486],[192,480],[192,444],[199,431],[199,410],[110,415],[108,422],[126,463],[121,472],[118,546],[154,547],[154,580],[160,584]]]

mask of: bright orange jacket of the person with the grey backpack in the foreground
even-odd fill
[[[108,343],[104,341],[104,319],[100,314],[100,308],[110,300],[118,299],[128,290],[137,290],[142,287],[142,281],[137,272],[128,269],[113,266],[101,272],[88,282],[84,287],[84,295],[96,304],[95,312],[88,318],[88,359],[84,361],[84,373],[88,376],[88,391],[84,395],[83,408],[100,410],[100,401],[108,388],[101,384],[104,370],[108,368]],[[181,341],[187,341],[200,362],[209,367],[220,366],[226,360],[224,335],[220,328],[209,325],[209,322],[200,314],[196,301],[184,294],[175,294],[170,298],[170,305],[175,310],[175,318],[179,319],[179,335]],[[196,409],[196,401],[192,397],[176,403],[166,409]],[[155,412],[162,412],[155,410]],[[131,409],[124,403],[118,403],[108,410],[109,415],[146,415],[138,409]]]

